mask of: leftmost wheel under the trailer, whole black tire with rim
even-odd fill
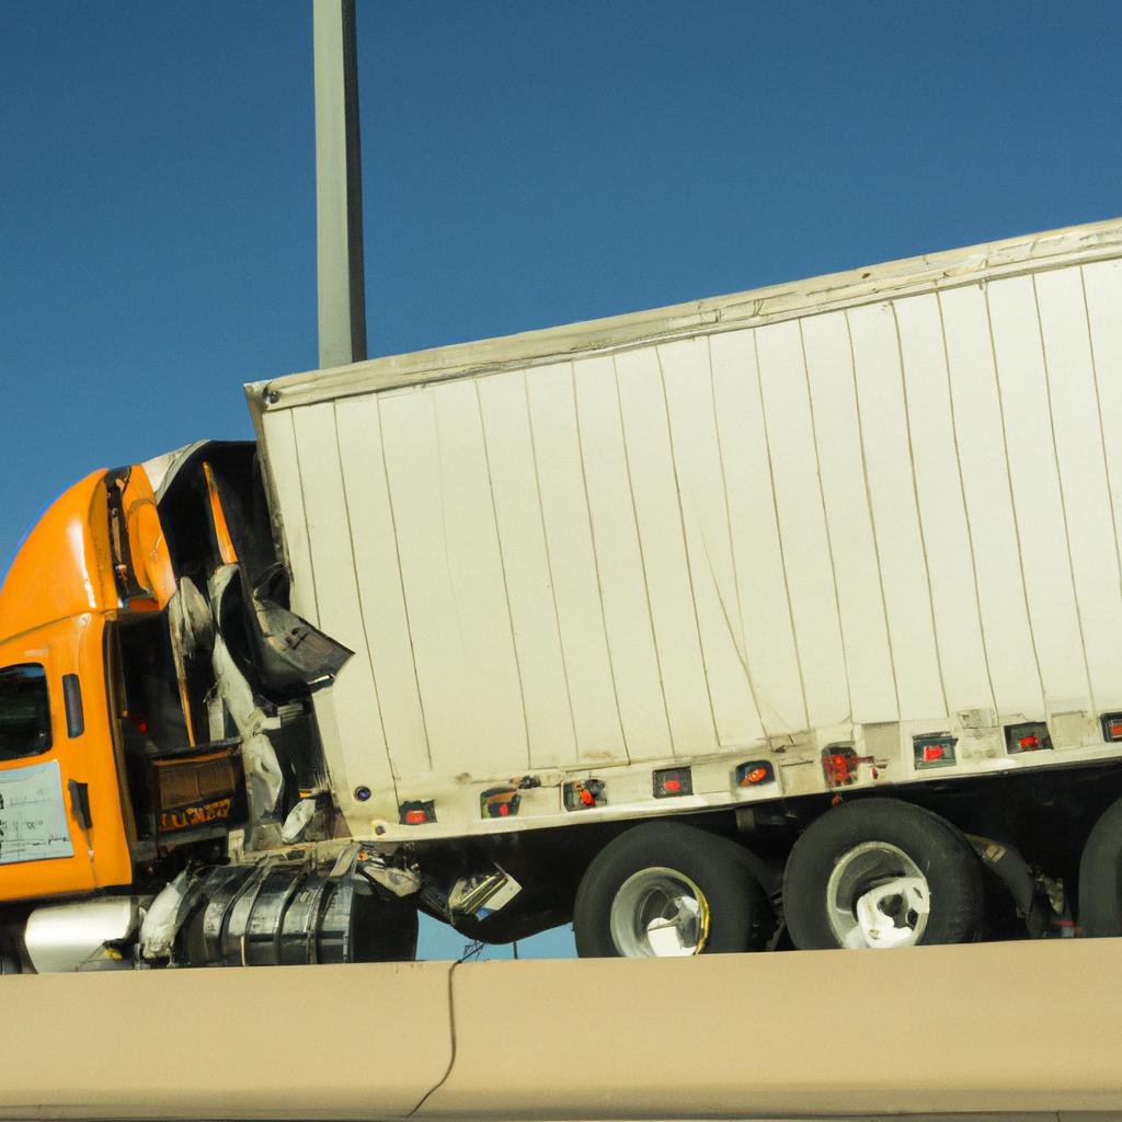
[[[581,958],[656,958],[762,949],[775,917],[744,850],[679,822],[620,834],[577,890]]]

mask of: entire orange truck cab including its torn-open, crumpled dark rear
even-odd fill
[[[213,442],[98,471],[18,550],[0,591],[3,969],[125,962],[174,883],[167,944],[188,870],[201,928],[205,871],[224,877],[231,844],[283,846],[297,806],[297,833],[330,837],[307,698],[349,652],[286,610],[256,471],[254,444]],[[301,857],[284,893],[324,908],[338,893]],[[303,922],[306,945],[322,932]]]

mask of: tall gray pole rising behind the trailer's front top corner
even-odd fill
[[[312,0],[320,366],[366,358],[355,0]]]

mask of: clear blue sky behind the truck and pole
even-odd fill
[[[371,355],[1122,213],[1118,4],[358,21]],[[7,558],[74,479],[248,436],[241,384],[316,365],[311,0],[0,0],[0,153]]]

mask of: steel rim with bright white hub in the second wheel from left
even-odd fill
[[[889,842],[864,842],[837,861],[826,912],[840,946],[885,950],[923,938],[931,891],[919,865]]]

